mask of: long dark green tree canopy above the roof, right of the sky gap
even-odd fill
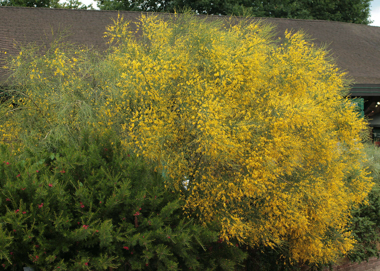
[[[198,14],[316,19],[369,24],[371,0],[98,0],[100,9],[173,12],[190,7]]]

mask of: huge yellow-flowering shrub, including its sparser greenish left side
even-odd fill
[[[372,186],[367,124],[327,52],[235,18],[142,16],[138,28],[141,39],[115,20],[105,35],[117,46],[101,61],[59,47],[14,58],[2,142],[54,151],[89,127],[115,130],[223,240],[310,263],[349,251],[350,210]]]

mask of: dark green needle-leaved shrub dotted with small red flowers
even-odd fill
[[[0,266],[5,270],[236,270],[245,253],[182,214],[161,174],[112,137],[77,149],[1,147]]]

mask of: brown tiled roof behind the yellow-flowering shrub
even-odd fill
[[[116,18],[118,13],[0,6],[0,50],[17,54],[17,48],[13,48],[15,43],[42,46],[57,38],[63,30],[68,30],[71,35],[63,38],[63,41],[86,44],[103,51],[108,48],[106,40],[102,38],[105,27],[112,24],[111,18]],[[141,13],[120,11],[120,15],[127,21],[136,22]],[[324,20],[256,19],[275,24],[277,36],[283,35],[286,29],[304,30],[317,45],[326,44],[336,58],[337,65],[348,71],[357,83],[380,84],[380,27]],[[4,76],[5,70],[1,69],[0,80],[4,80]]]

